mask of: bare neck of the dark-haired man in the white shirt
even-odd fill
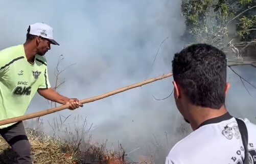
[[[189,121],[193,130],[196,130],[206,120],[217,118],[227,112],[224,105],[220,109],[194,106],[189,111],[191,111]]]

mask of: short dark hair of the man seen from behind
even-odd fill
[[[208,44],[193,44],[174,55],[173,79],[192,104],[219,109],[225,103],[226,56]]]

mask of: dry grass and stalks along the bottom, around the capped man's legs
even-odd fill
[[[66,120],[66,119],[65,119]],[[79,121],[77,117],[76,122]],[[128,162],[126,161],[126,152],[119,144],[118,150],[107,150],[107,140],[103,144],[90,143],[91,136],[88,132],[91,126],[86,130],[86,119],[81,127],[75,127],[72,130],[71,125],[65,125],[59,117],[55,118],[51,125],[53,135],[47,135],[42,130],[40,119],[30,120],[24,123],[37,124],[36,128],[26,128],[30,144],[32,146],[32,157],[35,164],[153,164],[154,162]],[[50,123],[49,123],[50,125]],[[9,145],[0,136],[0,163],[16,163],[16,154]]]

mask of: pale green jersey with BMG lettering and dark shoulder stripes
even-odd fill
[[[24,115],[37,89],[50,87],[45,57],[30,64],[23,44],[0,51],[0,120]]]

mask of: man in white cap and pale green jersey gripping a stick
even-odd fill
[[[44,54],[53,39],[53,28],[36,23],[30,25],[24,44],[0,51],[0,120],[24,115],[36,91],[45,99],[69,104],[69,109],[83,105],[57,93],[48,80]],[[31,164],[31,146],[22,122],[0,126],[0,134],[17,154],[18,164]]]

